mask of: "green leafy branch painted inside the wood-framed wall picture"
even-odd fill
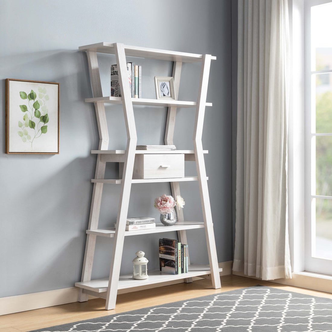
[[[27,99],[27,105],[19,105],[24,113],[23,122],[19,121],[18,126],[21,130],[17,133],[23,142],[31,143],[31,148],[35,139],[41,137],[41,134],[47,133],[48,109],[46,102],[49,100],[46,88],[38,87],[37,93],[31,90],[30,93],[20,91],[21,99]]]

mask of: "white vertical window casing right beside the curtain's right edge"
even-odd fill
[[[304,271],[304,0],[290,0],[291,93],[288,124],[288,220],[293,273]]]

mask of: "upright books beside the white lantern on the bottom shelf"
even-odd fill
[[[188,272],[188,245],[172,239],[159,239],[159,267],[161,272]]]

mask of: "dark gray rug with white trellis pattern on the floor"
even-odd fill
[[[332,300],[255,286],[35,331],[327,332]]]

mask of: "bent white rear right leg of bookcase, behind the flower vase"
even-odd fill
[[[173,62],[174,91],[176,99],[178,98],[179,94],[181,69],[182,69],[182,62],[178,61]],[[174,144],[173,136],[174,136],[175,118],[176,118],[176,107],[169,107],[167,111],[167,121],[166,121],[166,130],[165,130],[166,145]],[[172,191],[172,196],[174,198],[176,198],[177,195],[181,195],[179,182],[171,182],[171,191]],[[178,220],[183,221],[184,220],[183,210],[176,207],[176,211],[178,213]],[[188,243],[187,234],[185,230],[178,231],[178,238],[181,243]],[[188,262],[189,262],[189,256],[188,256]],[[193,278],[185,278],[184,281],[185,283],[191,283],[193,281]]]

